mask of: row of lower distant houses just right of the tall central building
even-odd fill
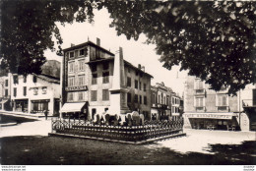
[[[151,86],[152,90],[152,116],[158,115],[161,119],[167,119],[168,116],[173,119],[180,116],[181,98],[163,83],[157,83]],[[153,119],[155,119],[153,118]]]

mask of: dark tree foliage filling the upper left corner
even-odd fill
[[[1,69],[11,73],[39,74],[46,58],[43,51],[54,49],[62,55],[62,38],[56,22],[65,25],[93,21],[90,1],[4,0],[1,3]],[[55,40],[54,40],[55,38]]]

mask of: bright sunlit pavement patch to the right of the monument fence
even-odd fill
[[[156,144],[181,153],[201,152],[211,154],[209,144],[241,144],[245,141],[256,141],[256,132],[231,132],[210,130],[184,130],[186,137],[166,140]],[[153,144],[151,147],[157,147]]]

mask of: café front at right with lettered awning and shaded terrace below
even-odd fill
[[[237,131],[239,126],[233,113],[185,114],[192,129]]]

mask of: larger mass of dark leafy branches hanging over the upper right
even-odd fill
[[[235,94],[255,83],[256,2],[106,1],[111,27],[128,39],[145,33],[163,67],[181,65],[213,89]]]

